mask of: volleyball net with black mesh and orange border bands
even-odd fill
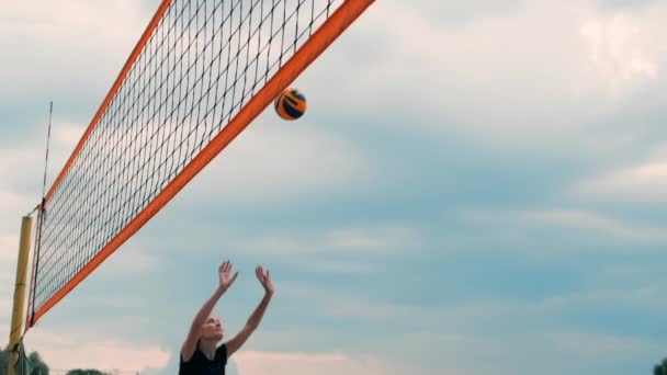
[[[26,329],[373,0],[163,0],[38,211]]]

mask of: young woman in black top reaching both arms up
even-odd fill
[[[255,332],[273,296],[274,289],[271,279],[269,279],[269,271],[264,273],[264,270],[260,265],[255,269],[255,273],[264,288],[264,297],[246,322],[244,329],[229,341],[218,346],[225,332],[221,319],[211,315],[211,311],[223,294],[234,284],[236,276],[238,276],[238,272],[234,276],[231,275],[231,263],[229,261],[221,264],[218,269],[219,285],[211,298],[200,308],[192,321],[188,338],[181,346],[179,375],[225,374],[227,359],[239,350],[250,334]]]

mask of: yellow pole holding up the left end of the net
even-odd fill
[[[9,375],[14,374],[14,365],[19,361],[19,351],[14,350],[23,334],[23,316],[25,315],[25,279],[27,274],[27,258],[30,254],[30,236],[33,230],[33,218],[23,216],[21,220],[21,239],[19,241],[19,262],[16,264],[16,283],[14,286],[14,308],[12,325],[9,332]]]

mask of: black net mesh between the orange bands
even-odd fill
[[[342,0],[174,0],[46,202],[39,309],[135,218]]]

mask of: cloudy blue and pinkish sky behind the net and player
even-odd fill
[[[158,5],[0,1],[0,337],[21,217]],[[173,374],[217,265],[231,374],[646,374],[667,356],[664,1],[383,0],[32,328],[54,373]],[[47,188],[50,184],[47,183]]]

